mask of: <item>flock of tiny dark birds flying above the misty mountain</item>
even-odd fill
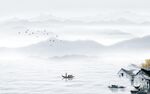
[[[25,30],[24,32],[18,32],[19,35],[24,35],[24,36],[31,36],[34,38],[40,38],[40,37],[47,37],[50,38],[50,46],[52,46],[53,43],[56,42],[56,39],[58,38],[58,35],[55,35],[53,32],[47,32],[46,30],[37,30],[33,31],[30,29]]]

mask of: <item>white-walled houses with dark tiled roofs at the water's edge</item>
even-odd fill
[[[139,69],[138,71],[121,69],[118,72],[119,77],[126,77],[130,80],[131,85],[136,89],[150,90],[150,70]]]

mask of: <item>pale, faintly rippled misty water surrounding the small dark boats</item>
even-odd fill
[[[1,94],[130,94],[128,80],[120,79],[121,67],[137,63],[140,59],[113,57],[88,58],[24,58],[1,60]],[[142,59],[141,59],[142,61]],[[65,73],[75,76],[62,79]],[[111,90],[108,86],[119,84],[125,89]]]

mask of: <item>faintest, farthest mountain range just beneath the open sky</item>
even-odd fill
[[[111,15],[111,16],[110,16]],[[81,25],[81,24],[135,24],[135,25],[149,25],[150,16],[141,16],[131,12],[108,13],[107,15],[97,15],[94,17],[79,17],[79,18],[61,18],[54,15],[41,15],[28,19],[12,18],[4,21],[4,25],[18,25],[18,26],[48,26],[48,25]]]

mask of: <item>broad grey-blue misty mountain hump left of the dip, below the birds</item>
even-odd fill
[[[47,40],[27,47],[19,48],[20,52],[32,55],[64,56],[99,54],[105,46],[94,41]]]

